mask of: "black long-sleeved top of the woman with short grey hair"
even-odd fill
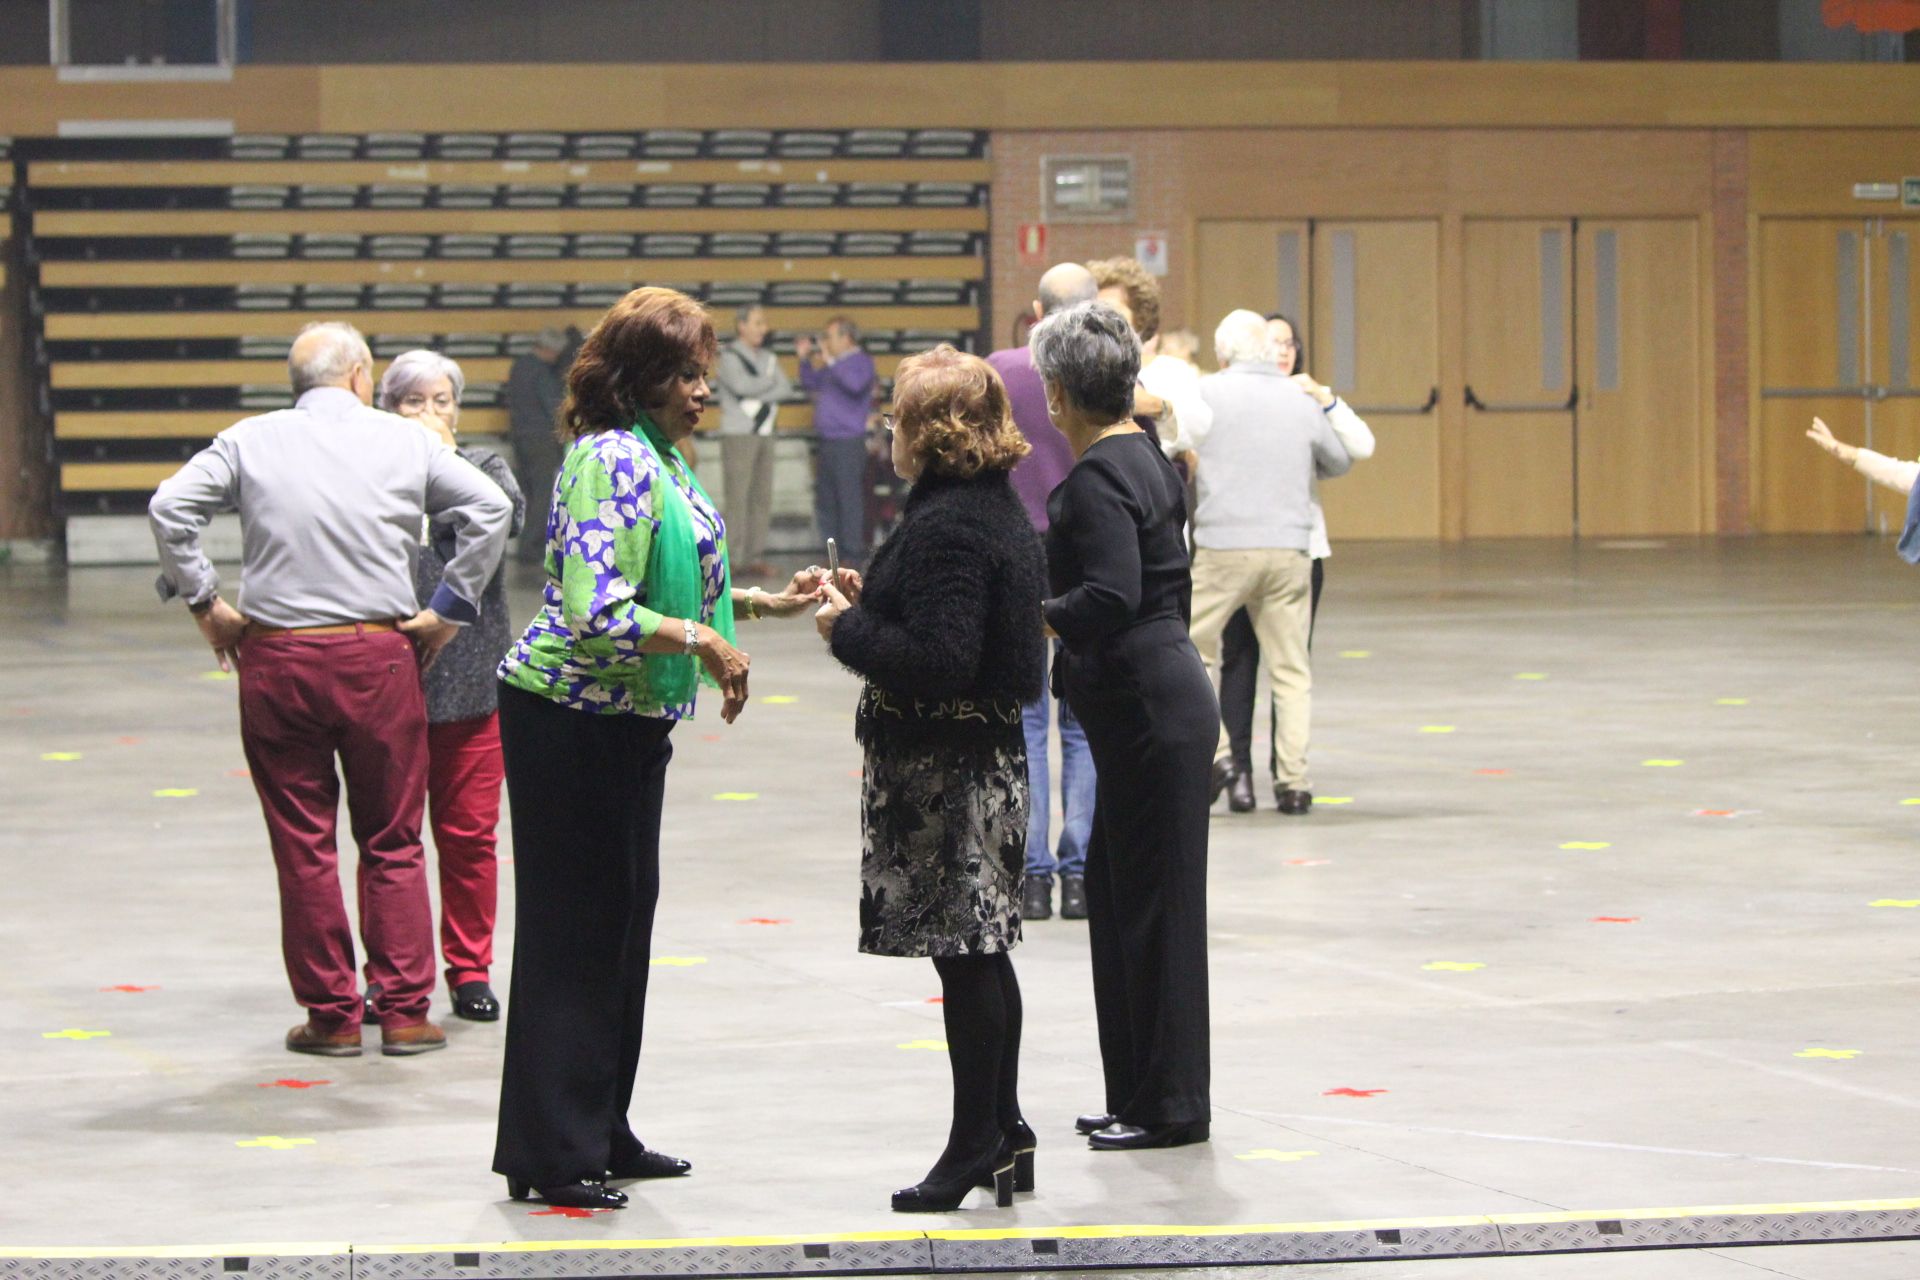
[[[1046,499],[1048,626],[1079,651],[1152,618],[1192,616],[1181,476],[1146,432],[1108,436]]]

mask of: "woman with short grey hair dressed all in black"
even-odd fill
[[[1046,499],[1054,691],[1094,770],[1087,923],[1106,1107],[1100,1150],[1204,1142],[1208,1098],[1208,773],[1219,704],[1187,639],[1192,580],[1179,474],[1131,418],[1140,344],[1081,303],[1033,330],[1046,413],[1079,462]]]

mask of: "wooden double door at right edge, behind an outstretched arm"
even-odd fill
[[[1841,439],[1920,457],[1912,317],[1920,219],[1763,219],[1761,438],[1755,524],[1772,533],[1897,532],[1907,499],[1832,462],[1814,416]]]

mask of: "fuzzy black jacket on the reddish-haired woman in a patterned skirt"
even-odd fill
[[[1004,727],[1006,706],[1018,729],[1018,704],[1046,677],[1044,595],[1046,553],[1006,472],[922,476],[860,603],[833,624],[833,656],[868,681],[860,741],[874,741],[881,700],[889,720],[920,722],[916,737]],[[998,716],[968,704],[998,704]]]

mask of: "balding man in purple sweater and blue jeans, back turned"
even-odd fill
[[[1092,273],[1079,263],[1060,263],[1041,276],[1039,297],[1033,299],[1033,319],[1039,320],[1073,303],[1098,296]],[[1027,509],[1033,528],[1046,532],[1046,495],[1073,470],[1073,447],[1046,416],[1046,388],[1033,367],[1027,347],[1010,347],[987,357],[1006,384],[1014,407],[1014,424],[1027,438],[1033,453],[1014,466],[1014,491]],[[1060,641],[1054,641],[1058,647]],[[1087,919],[1087,839],[1092,835],[1092,752],[1087,750],[1087,731],[1073,720],[1068,704],[1060,704],[1060,848],[1048,844],[1052,779],[1046,770],[1048,695],[1021,710],[1027,729],[1027,789],[1033,810],[1027,818],[1027,877],[1021,890],[1021,919],[1046,919],[1054,913],[1054,875],[1060,875],[1060,915]]]

